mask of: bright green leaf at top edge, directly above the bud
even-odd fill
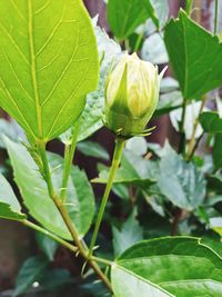
[[[108,22],[112,32],[121,40],[133,33],[148,18],[152,18],[159,27],[159,20],[150,0],[109,0],[108,2]]]

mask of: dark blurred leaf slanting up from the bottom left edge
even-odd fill
[[[40,257],[32,257],[26,260],[19,271],[16,289],[12,296],[16,297],[26,293],[36,279],[43,273],[48,264],[49,263],[46,259]]]

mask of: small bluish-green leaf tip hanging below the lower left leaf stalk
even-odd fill
[[[36,234],[37,242],[49,261],[52,261],[59,244],[44,234]]]

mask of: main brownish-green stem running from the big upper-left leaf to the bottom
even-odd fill
[[[105,286],[112,291],[112,286],[110,284],[109,279],[107,278],[107,276],[102,273],[102,270],[97,265],[97,263],[89,259],[89,257],[88,257],[89,250],[88,250],[84,241],[79,238],[79,234],[78,234],[75,226],[73,225],[73,222],[72,222],[72,220],[71,220],[71,218],[67,211],[67,208],[64,207],[60,197],[58,197],[56,191],[54,191],[52,179],[51,179],[51,172],[50,172],[50,168],[49,168],[49,162],[48,162],[48,158],[47,158],[47,152],[46,152],[46,145],[43,142],[39,142],[39,154],[40,154],[40,157],[41,157],[42,164],[43,164],[44,178],[46,178],[46,181],[48,185],[49,196],[53,200],[61,217],[63,218],[63,221],[67,225],[67,228],[70,231],[72,239],[79,249],[80,255],[87,261],[89,260],[89,265],[91,266],[91,268],[97,273],[97,275],[105,284]]]

